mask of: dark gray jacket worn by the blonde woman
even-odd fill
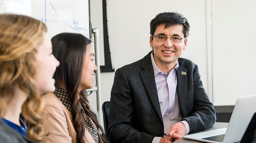
[[[9,127],[0,117],[0,142],[4,143],[35,143]]]

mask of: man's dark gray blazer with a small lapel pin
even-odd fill
[[[108,128],[112,143],[151,143],[155,136],[164,135],[151,53],[115,72]],[[178,62],[176,90],[182,120],[189,123],[189,133],[207,129],[216,121],[217,113],[205,92],[198,66],[185,58]]]

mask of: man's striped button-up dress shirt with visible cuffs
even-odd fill
[[[151,53],[151,61],[154,70],[160,109],[164,122],[164,137],[166,137],[171,127],[175,123],[180,122],[182,119],[179,112],[178,95],[176,91],[176,69],[179,67],[179,63],[177,61],[174,69],[167,74],[166,72],[160,71],[160,69],[156,66],[153,54],[154,52]],[[186,120],[181,122],[185,125],[187,133],[189,133],[190,129],[188,122]],[[152,143],[159,143],[161,138],[162,137],[154,137]]]

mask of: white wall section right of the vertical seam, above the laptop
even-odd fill
[[[256,94],[256,1],[212,1],[214,105]]]

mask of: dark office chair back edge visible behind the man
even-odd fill
[[[108,131],[108,111],[109,111],[109,102],[105,101],[102,104],[102,113],[103,113],[103,122],[104,122],[104,134],[103,137],[108,140],[107,131]]]

